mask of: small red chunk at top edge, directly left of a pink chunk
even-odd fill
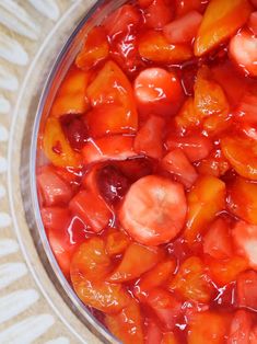
[[[174,18],[174,7],[172,1],[153,0],[144,10],[144,19],[148,27],[163,28]]]

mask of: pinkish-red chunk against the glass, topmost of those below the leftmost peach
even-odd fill
[[[40,168],[37,174],[37,187],[44,205],[47,207],[66,205],[72,197],[70,185],[56,174],[55,169],[49,165]]]

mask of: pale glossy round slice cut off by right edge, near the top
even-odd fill
[[[232,60],[246,74],[257,77],[257,37],[247,31],[241,31],[230,43]]]

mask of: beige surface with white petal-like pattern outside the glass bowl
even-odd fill
[[[69,15],[69,10],[80,2],[86,3],[86,0],[0,0],[1,344],[98,343],[87,330],[83,335],[82,328],[81,333],[75,333],[69,319],[63,319],[65,314],[60,314],[54,307],[48,291],[51,295],[56,291],[44,290],[43,283],[36,277],[34,265],[37,262],[30,261],[30,252],[20,246],[20,223],[12,218],[12,196],[7,182],[10,174],[9,159],[12,159],[11,140],[15,139],[10,128],[16,119],[15,103],[26,80],[28,67],[33,65],[42,43],[48,35],[50,37],[50,32],[59,25],[61,19]],[[15,190],[15,185],[12,187]],[[46,279],[45,276],[44,278]],[[74,319],[70,321],[75,321]],[[75,322],[73,324],[77,326]]]

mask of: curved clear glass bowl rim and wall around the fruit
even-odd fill
[[[75,2],[70,8],[69,14],[60,20],[55,31],[48,35],[30,67],[16,102],[17,119],[12,128],[16,134],[10,150],[12,154],[10,186],[14,220],[21,228],[17,236],[23,253],[31,265],[39,257],[42,264],[35,263],[35,266],[32,266],[34,277],[38,280],[38,285],[43,286],[43,291],[49,294],[48,301],[54,305],[62,320],[68,322],[70,330],[77,332],[80,341],[87,343],[94,343],[93,341],[118,343],[118,341],[80,301],[51,252],[42,222],[36,191],[37,135],[40,124],[48,116],[58,87],[81,48],[86,32],[124,2],[126,1],[86,0]],[[20,154],[16,154],[17,150]],[[16,182],[12,183],[12,181]],[[48,287],[50,290],[47,289]],[[94,336],[90,340],[85,337],[82,324],[96,336],[96,340]]]

